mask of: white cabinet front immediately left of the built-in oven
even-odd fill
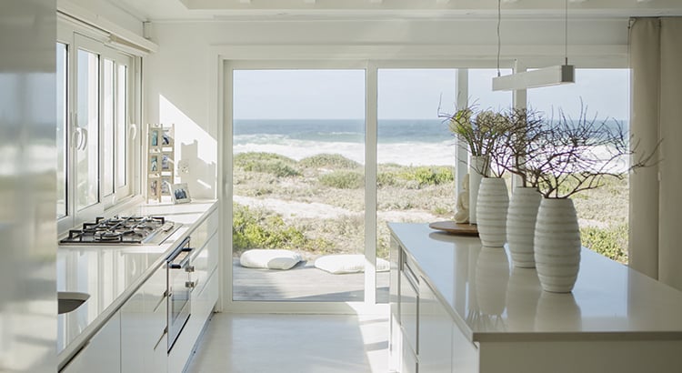
[[[121,372],[167,371],[165,266],[121,308]]]

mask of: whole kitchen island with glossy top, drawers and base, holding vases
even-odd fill
[[[583,248],[573,292],[549,293],[506,248],[389,227],[396,371],[682,371],[677,289]]]

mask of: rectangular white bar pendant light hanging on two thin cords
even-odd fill
[[[499,58],[501,43],[499,26],[502,18],[501,1],[497,0],[497,76],[493,78],[493,91],[513,91],[540,86],[559,86],[576,83],[576,66],[568,65],[568,0],[565,0],[564,65],[543,67],[509,76],[500,76]]]

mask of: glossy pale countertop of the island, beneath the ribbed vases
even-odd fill
[[[436,296],[472,342],[681,339],[682,292],[583,248],[572,293],[543,291],[506,248],[426,224],[390,223]]]

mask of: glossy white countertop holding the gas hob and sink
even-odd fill
[[[167,220],[183,223],[160,246],[58,247],[57,291],[77,291],[90,295],[75,311],[57,318],[57,359],[60,365],[114,315],[146,278],[163,264],[187,232],[203,221],[216,206],[215,201],[193,201],[181,205],[145,205],[128,210],[139,216],[163,216]]]

